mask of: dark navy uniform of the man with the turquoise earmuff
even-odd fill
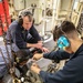
[[[44,58],[52,60],[70,60],[62,70],[55,73],[40,71],[40,76],[44,83],[83,83],[83,44],[74,54],[61,54],[60,51],[44,54]]]

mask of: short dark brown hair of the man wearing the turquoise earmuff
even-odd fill
[[[55,25],[53,30],[53,40],[58,40],[61,35],[66,35],[76,31],[75,25],[71,21],[63,21],[60,25]]]

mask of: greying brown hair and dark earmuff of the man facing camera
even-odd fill
[[[21,12],[21,14],[19,15],[18,22],[22,25],[23,24],[23,17],[28,17],[29,21],[33,21],[33,15],[30,11],[24,11]]]

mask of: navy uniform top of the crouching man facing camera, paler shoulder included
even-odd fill
[[[25,50],[25,52],[30,52],[29,48],[27,48],[27,43],[37,43],[41,40],[38,31],[32,25],[30,30],[24,30],[18,21],[13,21],[9,30],[7,32],[7,40],[11,39],[12,42],[12,50]]]

